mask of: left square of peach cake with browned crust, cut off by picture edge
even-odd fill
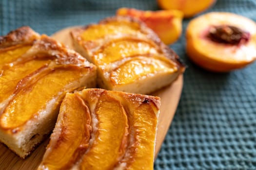
[[[65,93],[96,85],[97,68],[47,35],[0,36],[0,142],[21,158],[53,130]]]

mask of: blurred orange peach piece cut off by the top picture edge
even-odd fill
[[[211,7],[216,0],[158,0],[160,8],[176,9],[184,13],[184,17],[193,17]]]

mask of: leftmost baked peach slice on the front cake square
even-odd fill
[[[69,169],[85,153],[91,133],[87,105],[76,94],[67,94],[39,169]]]

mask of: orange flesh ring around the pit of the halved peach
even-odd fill
[[[245,44],[228,45],[206,37],[209,27],[231,25],[251,34]],[[202,68],[226,72],[245,67],[256,60],[256,24],[248,18],[230,13],[209,13],[192,20],[187,27],[187,53]]]

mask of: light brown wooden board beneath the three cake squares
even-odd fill
[[[75,27],[65,28],[53,34],[52,37],[69,46],[73,49],[70,30]],[[178,79],[169,85],[152,95],[161,98],[160,115],[158,119],[158,131],[156,140],[156,152],[157,154],[161,148],[161,144],[165,138],[165,135],[172,122],[174,114],[176,112],[177,104],[179,102],[181,90],[183,86],[183,76],[180,75]],[[35,170],[37,169],[42,156],[45,152],[45,148],[49,142],[49,139],[45,140],[39,145],[39,147],[26,159],[21,159],[15,153],[10,151],[6,146],[0,144],[0,170]]]

